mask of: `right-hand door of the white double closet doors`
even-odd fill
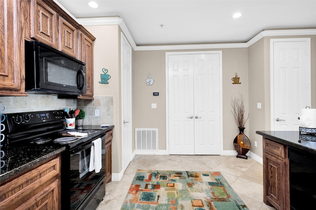
[[[219,54],[194,55],[194,153],[220,154]]]

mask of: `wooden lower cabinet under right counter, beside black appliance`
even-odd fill
[[[290,209],[287,146],[263,139],[263,201],[276,210]]]

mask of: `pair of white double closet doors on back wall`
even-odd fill
[[[221,52],[167,54],[169,154],[222,152]]]

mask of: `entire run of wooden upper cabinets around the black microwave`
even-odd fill
[[[87,93],[93,99],[93,41],[53,0],[0,0],[0,96],[25,93],[24,40],[39,40],[86,63]]]

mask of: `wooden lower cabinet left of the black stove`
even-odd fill
[[[0,209],[60,210],[60,156],[0,185]]]

